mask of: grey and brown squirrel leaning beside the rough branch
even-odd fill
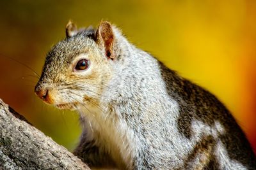
[[[77,110],[74,155],[90,167],[256,169],[244,132],[210,92],[129,43],[108,21],[77,29],[45,59],[35,93]]]

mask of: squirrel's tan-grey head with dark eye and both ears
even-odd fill
[[[109,22],[101,22],[95,30],[77,29],[68,22],[67,37],[47,53],[36,95],[70,110],[99,101],[116,60],[115,31]]]

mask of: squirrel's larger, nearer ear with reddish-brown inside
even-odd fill
[[[111,24],[106,21],[100,22],[95,34],[96,42],[100,46],[104,46],[106,57],[114,60],[115,54],[113,53],[113,45],[115,43],[115,36]]]

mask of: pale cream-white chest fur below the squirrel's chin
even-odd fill
[[[106,107],[86,106],[79,112],[84,119],[83,131],[88,134],[88,140],[95,140],[100,149],[110,153],[118,167],[131,169],[132,159],[140,145],[127,124],[113,109]]]

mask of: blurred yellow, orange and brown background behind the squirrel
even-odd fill
[[[36,97],[31,69],[41,73],[69,19],[79,27],[102,19],[118,25],[136,46],[215,94],[256,148],[256,1],[1,0],[0,6],[0,98],[68,150],[81,132],[78,115]]]

